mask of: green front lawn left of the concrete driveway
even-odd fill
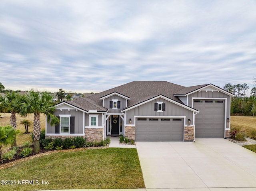
[[[0,185],[1,191],[145,188],[137,150],[130,148],[50,154],[2,169],[0,180],[49,182]]]

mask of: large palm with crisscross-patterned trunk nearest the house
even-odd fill
[[[31,90],[28,95],[20,96],[20,110],[21,116],[34,114],[33,119],[33,135],[34,135],[34,152],[40,152],[40,114],[46,115],[47,122],[52,126],[59,123],[59,119],[53,115],[55,106],[52,104],[53,94],[48,92],[40,92]]]

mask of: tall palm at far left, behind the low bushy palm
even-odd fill
[[[10,125],[12,128],[14,128],[14,130],[16,130],[17,126],[16,113],[19,109],[19,106],[17,105],[18,96],[19,95],[13,91],[6,93],[4,97],[0,95],[0,106],[4,108],[4,110],[10,110]],[[16,138],[14,138],[13,146],[17,146]]]

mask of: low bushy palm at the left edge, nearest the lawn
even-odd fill
[[[13,144],[19,130],[15,130],[12,126],[0,126],[0,159],[2,156],[2,147]]]

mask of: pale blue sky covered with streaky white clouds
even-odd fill
[[[252,88],[254,77],[255,0],[0,1],[6,89],[86,93],[131,81]]]

